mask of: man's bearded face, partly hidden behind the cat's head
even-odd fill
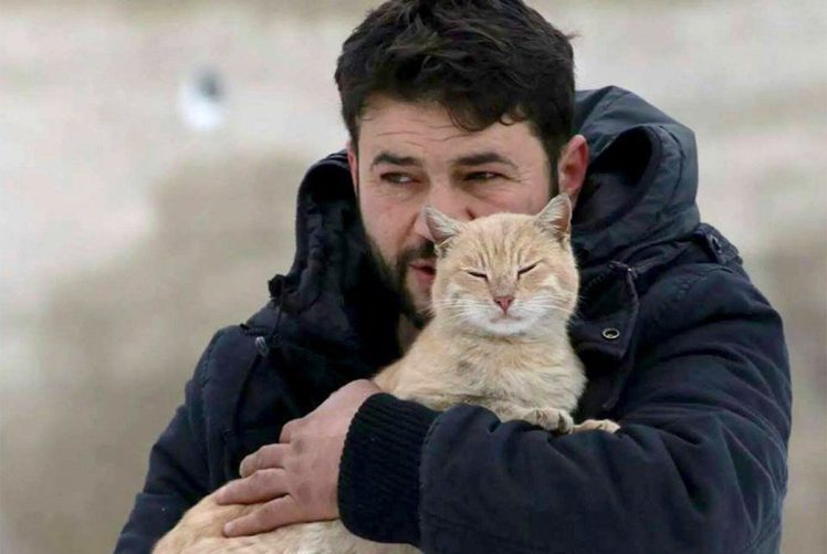
[[[469,133],[439,105],[371,96],[358,156],[348,148],[348,159],[376,261],[417,326],[427,321],[435,275],[423,206],[469,221],[537,213],[549,200],[548,158],[524,122]]]

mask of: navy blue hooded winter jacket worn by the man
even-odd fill
[[[425,552],[777,552],[791,426],[778,314],[700,223],[694,138],[639,97],[577,94],[590,166],[574,215],[578,418],[552,438],[390,395],[359,409],[341,464],[350,531]],[[398,305],[367,262],[343,153],[299,191],[296,257],[272,300],[219,331],[153,447],[116,552],[148,552],[240,460],[400,355]]]

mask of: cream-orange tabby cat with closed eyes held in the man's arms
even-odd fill
[[[438,254],[433,320],[406,355],[374,380],[399,398],[444,410],[460,403],[523,419],[557,433],[617,424],[573,425],[569,411],[586,385],[567,324],[578,275],[565,195],[537,216],[500,213],[460,223],[432,208],[426,220]],[[218,552],[379,554],[419,552],[350,534],[339,521],[289,525],[224,539],[224,523],[259,504],[216,504],[207,496],[156,546],[156,554]]]

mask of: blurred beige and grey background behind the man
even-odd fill
[[[578,33],[579,87],[697,132],[704,219],[786,322],[784,550],[826,552],[825,8],[530,3]],[[112,551],[201,349],[290,265],[373,4],[0,0],[0,551]]]

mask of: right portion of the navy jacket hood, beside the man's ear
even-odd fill
[[[618,87],[577,93],[575,125],[589,146],[572,232],[582,266],[651,263],[651,247],[692,232],[700,216],[689,128]]]

